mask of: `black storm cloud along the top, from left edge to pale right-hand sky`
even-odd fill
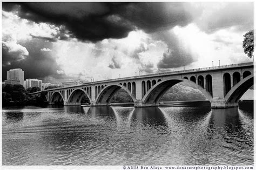
[[[3,3],[3,10],[35,22],[64,25],[71,37],[96,42],[123,38],[136,28],[146,32],[186,25],[192,21],[184,3]]]

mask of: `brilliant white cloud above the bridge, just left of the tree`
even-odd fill
[[[221,29],[211,34],[200,31],[197,25],[190,24],[181,28],[177,26],[174,32],[192,50],[198,58],[197,62],[186,66],[189,68],[208,67],[218,65],[252,62],[242,49],[242,40],[245,32],[233,27]]]

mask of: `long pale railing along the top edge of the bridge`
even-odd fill
[[[228,65],[220,65],[220,66],[211,66],[211,67],[202,67],[202,68],[198,68],[198,69],[169,71],[169,72],[161,72],[161,73],[154,73],[154,74],[145,74],[145,75],[140,75],[140,76],[130,76],[130,77],[123,77],[123,78],[107,79],[107,80],[100,80],[100,81],[83,83],[83,85],[96,84],[96,83],[98,84],[98,83],[105,83],[105,82],[117,81],[117,80],[127,80],[127,79],[134,79],[134,78],[164,76],[166,74],[187,73],[187,72],[204,71],[204,70],[215,70],[215,69],[223,69],[223,68],[228,68],[228,67],[237,67],[237,66],[246,66],[246,65],[253,65],[253,62],[240,63],[240,64],[228,64]],[[83,85],[76,85],[76,86],[70,86],[70,87],[79,87],[79,86],[83,86]],[[66,88],[69,88],[69,87],[66,87]],[[46,90],[46,91],[58,90],[58,89],[63,89],[63,87],[59,87],[59,88],[55,88],[55,89],[49,89],[49,90]],[[30,94],[32,94],[32,93],[30,93]]]

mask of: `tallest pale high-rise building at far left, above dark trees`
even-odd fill
[[[7,71],[5,84],[21,84],[24,82],[24,71],[22,69],[11,69]]]

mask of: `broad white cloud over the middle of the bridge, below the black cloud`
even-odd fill
[[[53,43],[52,53],[66,75],[80,79],[104,80],[134,76],[135,72],[147,69],[157,71],[157,63],[166,50],[166,44],[151,39],[143,31],[132,31],[122,39],[104,39],[96,44],[83,43],[76,39]],[[116,69],[109,66],[116,62]],[[119,67],[120,66],[120,67]]]

